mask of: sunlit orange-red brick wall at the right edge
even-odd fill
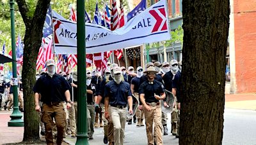
[[[256,2],[234,0],[237,93],[256,92]]]

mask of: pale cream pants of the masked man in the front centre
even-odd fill
[[[127,108],[119,109],[117,107],[111,108],[111,118],[114,125],[114,142],[115,145],[124,144],[124,129],[127,120]]]

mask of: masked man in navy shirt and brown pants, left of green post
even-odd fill
[[[70,85],[63,76],[56,74],[54,60],[47,60],[47,73],[41,76],[33,88],[35,92],[35,110],[41,112],[39,99],[43,102],[42,122],[45,125],[45,139],[47,144],[53,144],[52,128],[53,118],[58,130],[57,144],[63,142],[66,127],[66,113],[63,102],[67,102],[67,109],[71,107]],[[39,97],[40,94],[40,97]]]

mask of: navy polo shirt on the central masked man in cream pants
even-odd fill
[[[120,84],[115,81],[109,81],[105,86],[104,96],[109,97],[110,105],[125,106],[128,103],[127,98],[131,95],[130,85],[125,81],[121,81]]]

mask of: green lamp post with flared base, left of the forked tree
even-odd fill
[[[14,0],[10,0],[11,11],[11,35],[12,35],[12,59],[16,60],[16,46],[15,46],[15,20],[14,20]],[[17,78],[17,63],[12,62],[12,81],[13,81],[13,112],[10,115],[11,120],[8,121],[8,127],[24,127],[24,121],[21,119],[22,114],[18,106],[18,78]]]

